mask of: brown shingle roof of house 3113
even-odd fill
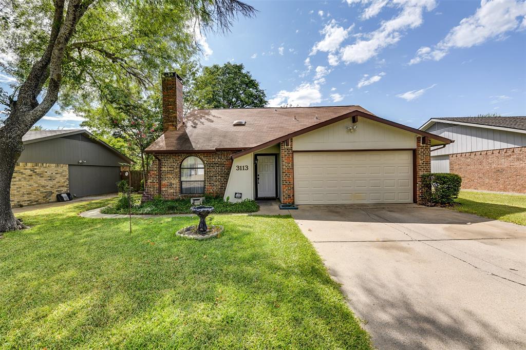
[[[315,127],[319,123],[322,123],[321,127],[328,120],[351,112],[410,129],[412,132],[427,134],[378,118],[360,106],[197,109],[188,114],[183,128],[166,131],[146,148],[146,152],[250,149],[299,130]],[[232,126],[235,120],[245,120],[247,123],[245,126]],[[427,135],[450,142],[439,136]]]

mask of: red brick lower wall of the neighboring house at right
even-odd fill
[[[449,171],[462,177],[462,188],[526,193],[526,147],[456,153]]]

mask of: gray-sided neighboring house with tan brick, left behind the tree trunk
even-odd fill
[[[131,160],[86,130],[28,131],[11,182],[13,207],[117,192],[120,164]]]

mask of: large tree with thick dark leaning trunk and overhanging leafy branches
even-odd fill
[[[100,83],[151,85],[194,54],[195,30],[228,30],[255,9],[238,0],[0,0],[0,232],[22,227],[11,180],[22,137],[55,105],[95,104]]]

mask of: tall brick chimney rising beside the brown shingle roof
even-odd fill
[[[163,132],[183,125],[183,83],[175,72],[163,73]]]

